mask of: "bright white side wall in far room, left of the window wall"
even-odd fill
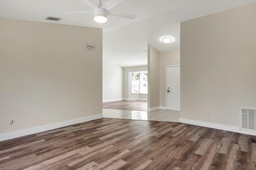
[[[103,60],[103,102],[124,100],[124,68]]]

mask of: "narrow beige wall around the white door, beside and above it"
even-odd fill
[[[160,52],[160,106],[166,107],[166,66],[180,65],[180,50]]]

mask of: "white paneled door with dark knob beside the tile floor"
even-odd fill
[[[180,66],[167,67],[167,109],[180,111]]]

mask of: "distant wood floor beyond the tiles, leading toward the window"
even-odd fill
[[[136,101],[121,100],[116,102],[105,102],[105,103],[102,103],[102,108],[147,111],[148,102],[140,101],[140,100],[136,100]]]

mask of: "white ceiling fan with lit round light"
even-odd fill
[[[94,13],[94,21],[98,23],[104,23],[106,22],[107,16],[118,16],[118,17],[123,17],[123,18],[130,18],[130,19],[135,19],[137,16],[132,15],[132,14],[126,14],[122,12],[114,12],[114,11],[109,11],[111,8],[122,2],[123,0],[109,0],[106,4],[102,5],[101,0],[100,4],[96,6],[93,4],[90,0],[81,0],[84,2],[86,5],[90,6],[92,8],[92,11],[74,11],[74,12],[62,12],[62,13],[79,13],[79,14],[85,14],[88,12],[93,12]]]

